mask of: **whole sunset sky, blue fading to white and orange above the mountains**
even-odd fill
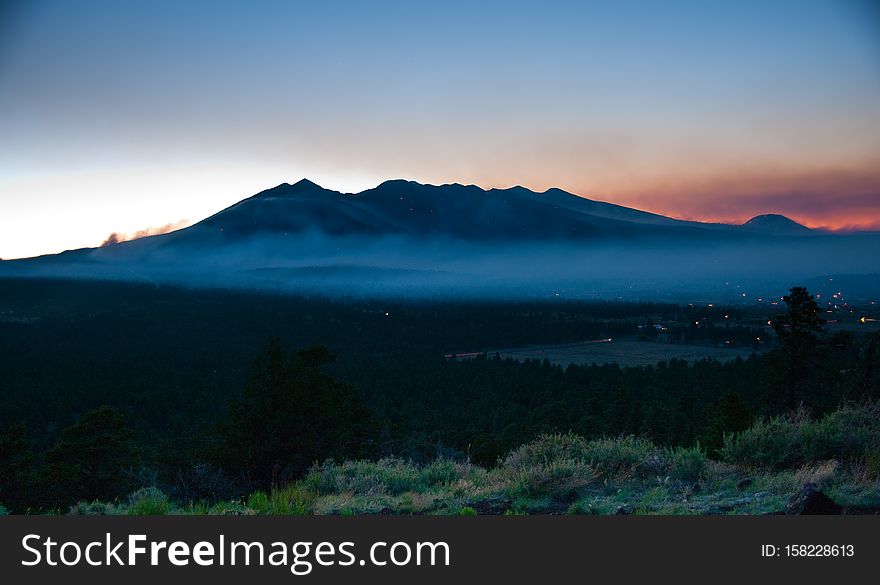
[[[0,257],[302,177],[880,228],[878,6],[0,1]]]

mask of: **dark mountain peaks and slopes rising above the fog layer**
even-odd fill
[[[303,179],[240,201],[167,240],[230,241],[305,232],[329,236],[441,237],[469,242],[671,238],[706,230],[794,234],[762,222],[741,228],[746,229],[672,219],[592,201],[561,189],[538,193],[523,187],[484,190],[457,183],[435,186],[392,180],[361,193],[343,194]]]

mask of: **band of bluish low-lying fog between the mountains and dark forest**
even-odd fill
[[[266,288],[327,296],[735,300],[829,274],[880,273],[880,235],[674,243],[472,243],[394,236],[144,238],[0,263],[0,275]],[[877,278],[866,277],[865,294]],[[736,285],[740,285],[737,288]]]

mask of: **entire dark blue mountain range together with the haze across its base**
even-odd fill
[[[319,294],[629,298],[775,295],[823,274],[880,272],[878,234],[781,215],[678,220],[561,189],[386,181],[356,194],[303,179],[175,232],[0,263],[0,275],[272,287]],[[413,292],[416,291],[416,292]],[[763,293],[762,293],[763,294]],[[641,296],[640,298],[646,298]]]

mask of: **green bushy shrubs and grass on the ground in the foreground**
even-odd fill
[[[803,411],[728,434],[720,458],[634,436],[542,435],[485,468],[440,458],[326,461],[245,498],[172,502],[155,488],[72,514],[762,514],[813,484],[848,513],[880,511],[880,403]]]

